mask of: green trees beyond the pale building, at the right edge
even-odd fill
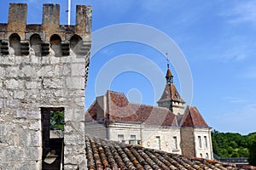
[[[243,136],[239,133],[219,133],[218,131],[213,130],[212,150],[213,153],[217,154],[219,157],[255,156],[256,133],[250,133]],[[256,156],[253,157],[252,160],[256,160]]]

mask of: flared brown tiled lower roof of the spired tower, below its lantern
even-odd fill
[[[182,97],[178,94],[177,88],[175,87],[175,85],[173,83],[166,84],[166,88],[165,88],[163,94],[161,95],[160,100],[157,103],[159,103],[161,101],[170,101],[171,99],[173,101],[185,103],[184,100],[182,99]]]

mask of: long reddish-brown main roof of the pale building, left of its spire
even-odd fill
[[[108,111],[106,111],[105,120],[143,122],[145,124],[159,126],[177,126],[174,114],[166,108],[129,103],[125,94],[109,90],[106,96],[108,98],[106,99]],[[90,117],[95,119],[96,102],[87,111],[85,115],[86,121],[90,121]]]

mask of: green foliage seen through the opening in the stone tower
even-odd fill
[[[64,112],[51,111],[49,120],[50,130],[64,130]]]

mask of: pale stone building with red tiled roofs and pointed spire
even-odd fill
[[[159,106],[130,103],[125,94],[107,91],[85,114],[86,134],[140,144],[191,157],[213,159],[211,127],[196,107],[187,106],[167,69]]]

